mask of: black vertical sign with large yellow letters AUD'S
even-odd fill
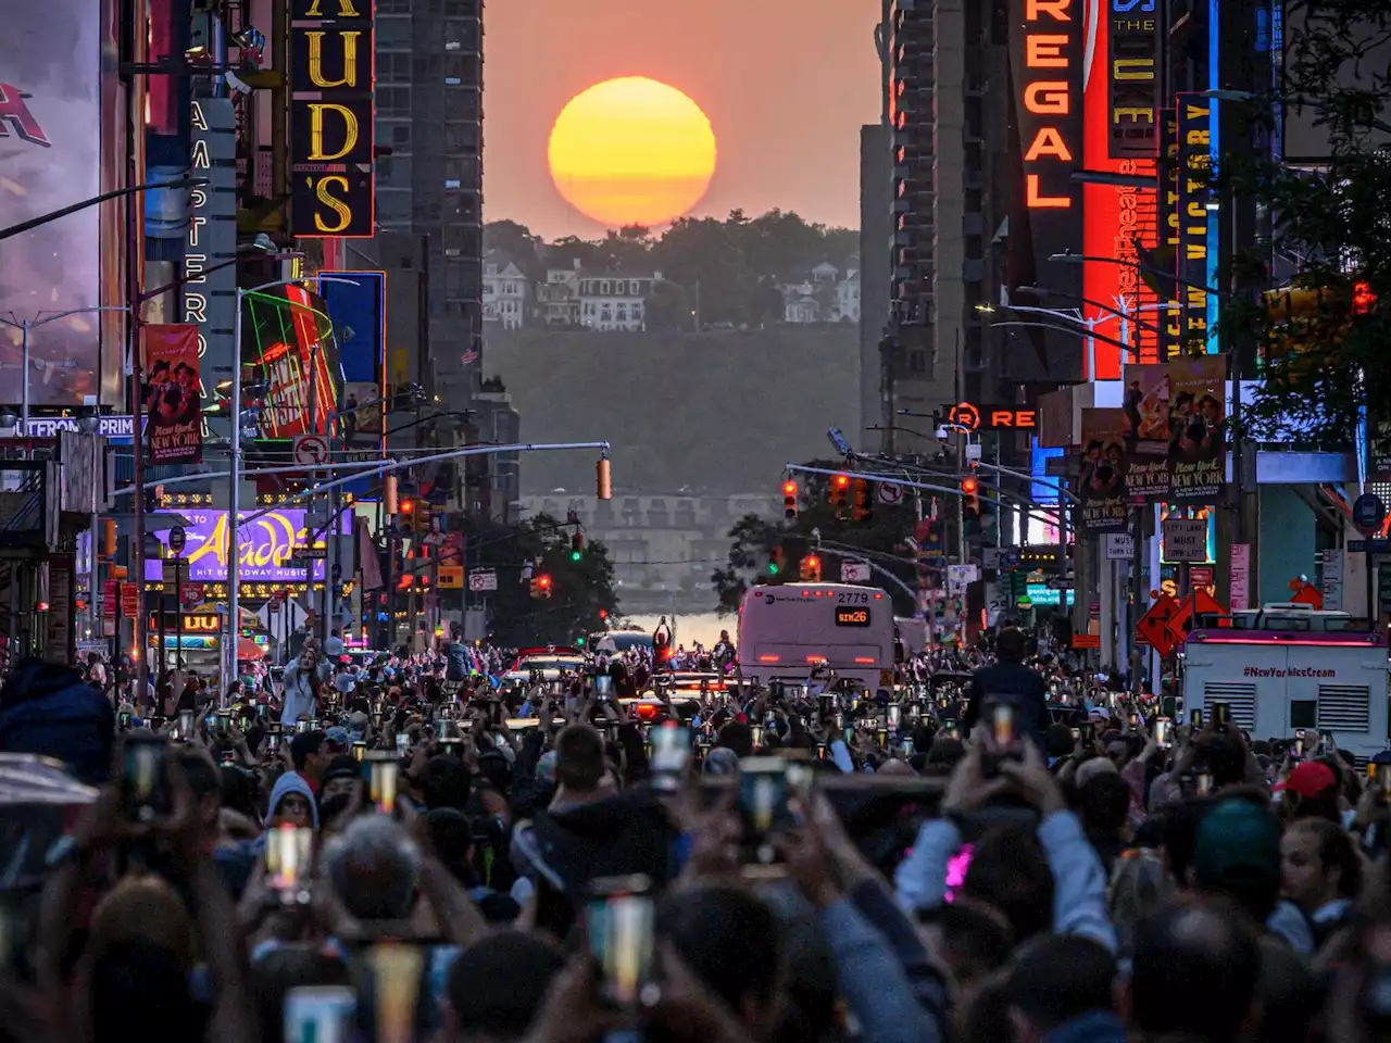
[[[373,232],[373,0],[291,0],[291,232]]]

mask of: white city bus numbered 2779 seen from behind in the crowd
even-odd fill
[[[739,608],[746,679],[805,679],[825,662],[861,687],[893,687],[893,601],[878,587],[787,583],[751,587]]]

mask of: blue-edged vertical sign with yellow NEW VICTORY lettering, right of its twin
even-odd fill
[[[1178,95],[1178,298],[1184,353],[1207,345],[1207,224],[1212,199],[1212,102]],[[1187,285],[1185,285],[1187,284]]]

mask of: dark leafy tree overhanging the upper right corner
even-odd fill
[[[1234,259],[1245,289],[1220,320],[1245,375],[1263,377],[1244,427],[1262,441],[1346,451],[1359,416],[1391,419],[1391,13],[1381,0],[1289,0],[1285,54],[1276,86],[1251,100],[1221,102],[1246,117],[1252,139],[1303,107],[1327,134],[1317,171],[1284,167],[1266,149],[1244,149],[1224,131],[1213,188],[1224,200],[1253,199],[1270,214],[1270,236]],[[1380,65],[1374,56],[1380,54]],[[1253,289],[1308,291],[1314,305],[1291,317],[1288,298]],[[1378,413],[1380,407],[1380,416]]]

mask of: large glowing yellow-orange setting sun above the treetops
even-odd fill
[[[690,213],[715,174],[715,132],[676,88],[625,76],[576,95],[551,131],[551,178],[586,217],[609,228],[659,225]]]

